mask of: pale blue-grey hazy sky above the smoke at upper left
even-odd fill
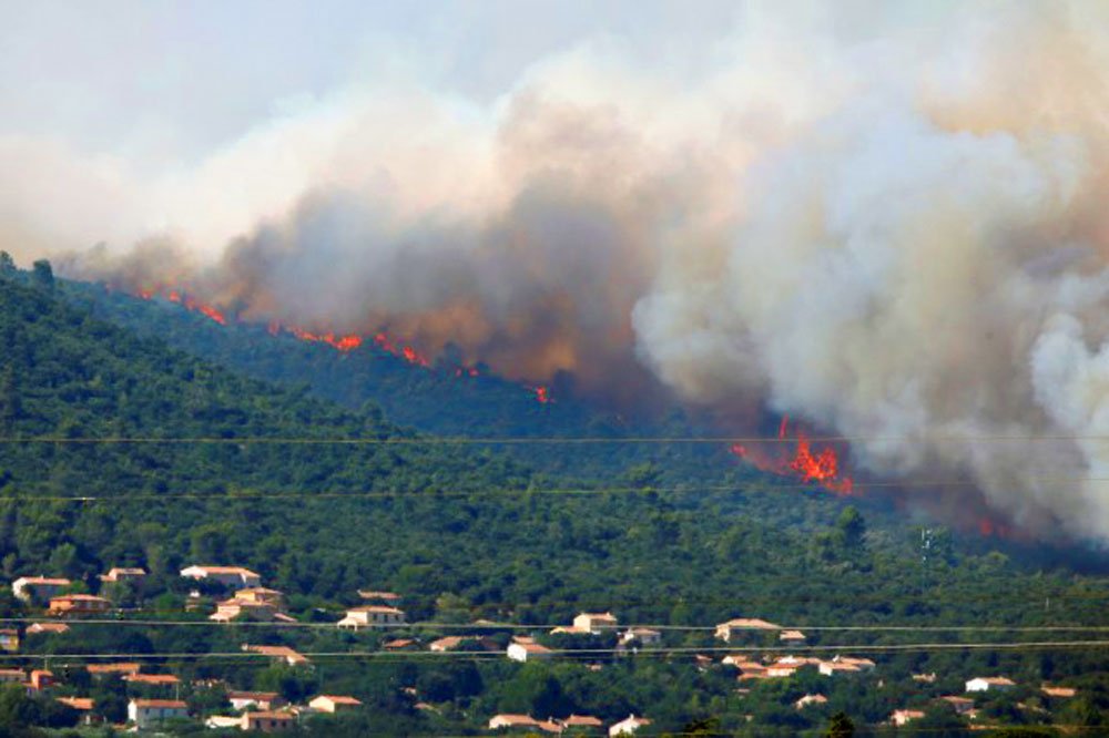
[[[0,134],[59,136],[135,164],[195,157],[383,76],[489,102],[529,65],[582,43],[695,73],[737,16],[718,0],[0,6]]]

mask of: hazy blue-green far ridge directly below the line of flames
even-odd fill
[[[576,398],[572,381],[538,387],[507,381],[484,366],[462,367],[447,356],[423,367],[373,342],[338,351],[324,342],[298,340],[288,332],[272,335],[265,325],[230,320],[220,325],[164,297],[141,299],[102,285],[60,283],[64,295],[87,305],[93,315],[140,336],[242,371],[256,379],[305,386],[317,397],[358,410],[379,406],[396,422],[430,433],[480,438],[628,438],[689,437],[704,433],[674,408],[662,418],[625,418],[601,411]],[[472,372],[472,373],[471,373]],[[542,396],[537,392],[541,391]],[[543,400],[543,401],[540,401]],[[658,398],[644,398],[652,404]],[[655,408],[658,409],[658,408]],[[604,475],[645,460],[679,468],[681,475],[700,474],[728,461],[723,447],[639,444],[568,448],[506,445],[533,468]]]

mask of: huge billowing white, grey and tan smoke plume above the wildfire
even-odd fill
[[[487,106],[354,89],[141,187],[69,162],[119,213],[72,234],[35,225],[68,201],[47,217],[7,142],[35,174],[7,175],[6,234],[618,401],[762,398],[876,473],[967,474],[1018,524],[1105,540],[1109,19],[882,8],[753,11],[693,80],[590,44]]]

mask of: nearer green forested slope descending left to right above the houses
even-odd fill
[[[28,653],[179,654],[154,660],[189,684],[220,678],[289,699],[328,689],[364,700],[356,715],[321,718],[316,735],[478,732],[505,711],[577,711],[609,721],[647,711],[658,730],[716,719],[729,731],[794,735],[821,728],[836,710],[876,724],[979,673],[1004,673],[1021,685],[1077,685],[1081,698],[1054,719],[1109,718],[1103,652],[1096,648],[920,647],[1090,638],[1014,628],[1103,624],[1103,577],[978,554],[942,530],[925,551],[917,526],[868,527],[849,500],[734,463],[684,483],[668,479],[659,461],[600,485],[588,474],[537,473],[480,445],[400,429],[373,404],[343,409],[136,338],[58,290],[47,265],[0,277],[3,574],[68,576],[74,588],[100,592],[96,574],[141,566],[149,582],[122,602],[142,614],[124,608],[119,617],[204,627],[74,621],[69,633],[30,638],[27,650],[6,658],[31,665]],[[248,566],[287,594],[297,623],[328,627],[210,626],[185,612],[190,587],[177,572],[193,563]],[[523,665],[498,654],[336,656],[384,653],[376,649],[391,637],[329,626],[367,587],[403,595],[408,619],[420,623],[407,632],[418,643],[487,618],[554,648],[608,652]],[[10,595],[2,605],[6,617],[32,614]],[[670,650],[635,656],[614,655],[612,639],[547,635],[545,626],[580,611],[676,629],[664,631]],[[906,649],[872,654],[881,686],[817,683],[801,673],[736,693],[712,626],[737,616],[807,628],[804,648]],[[507,643],[506,628],[484,627]],[[862,629],[835,629],[844,627]],[[237,652],[246,640],[332,656],[313,656],[311,670],[203,656]],[[774,635],[752,643],[777,648]],[[695,666],[699,649],[713,657],[711,668]],[[52,663],[74,691],[92,688],[82,687],[80,659]],[[938,680],[912,679],[924,672]],[[828,696],[825,708],[793,708],[817,688]],[[119,685],[95,689],[114,710],[105,715],[119,719]],[[185,691],[197,713],[222,704],[203,689]],[[431,708],[417,709],[413,694]],[[990,707],[996,719],[1042,721],[1014,707],[1018,699],[1038,697],[1016,693]]]

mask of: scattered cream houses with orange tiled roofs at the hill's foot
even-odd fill
[[[106,574],[101,575],[104,584],[115,584],[124,582],[141,582],[146,573],[141,568],[115,567]],[[208,619],[215,623],[231,623],[233,621],[258,621],[274,623],[293,623],[295,619],[285,611],[285,596],[282,592],[262,586],[262,577],[248,568],[242,566],[212,566],[194,565],[181,570],[181,576],[193,580],[197,583],[216,584],[233,592],[232,596],[214,603],[214,612],[208,615]],[[103,615],[113,609],[110,599],[101,596],[67,593],[72,586],[72,582],[65,578],[24,576],[12,582],[12,592],[16,597],[29,604],[45,605],[49,615],[58,617],[95,616]],[[360,598],[366,603],[346,611],[344,617],[336,623],[340,629],[362,631],[366,628],[397,628],[408,625],[406,614],[398,607],[400,595],[384,591],[359,591]],[[190,609],[200,607],[203,597],[199,592],[193,592],[190,596]],[[211,601],[208,601],[211,602]],[[488,633],[490,629],[503,627],[503,624],[478,621],[474,623],[475,631]],[[65,623],[39,622],[28,626],[26,634],[40,633],[64,633],[69,629]],[[715,626],[715,636],[725,643],[733,643],[743,635],[752,633],[763,633],[773,637],[776,634],[776,642],[781,646],[795,646],[803,648],[806,645],[806,636],[801,631],[790,629],[759,618],[733,618]],[[662,634],[648,627],[628,627],[621,631],[619,621],[610,613],[580,613],[572,623],[558,626],[550,631],[551,636],[603,636],[615,635],[617,653],[651,648],[662,643]],[[513,635],[503,647],[503,640],[497,640],[481,633],[449,635],[437,638],[427,644],[431,652],[450,652],[461,649],[480,649],[487,652],[501,650],[515,662],[527,663],[530,660],[549,659],[558,655],[558,652],[538,643],[535,636]],[[14,652],[20,647],[20,633],[16,628],[0,628],[0,649]],[[406,650],[421,648],[423,644],[415,637],[401,637],[386,640],[381,644],[385,650]],[[244,650],[266,656],[276,662],[292,666],[307,664],[308,659],[302,654],[287,646],[268,645],[244,645]],[[702,668],[708,667],[713,659],[709,656],[699,655],[696,662]],[[858,674],[867,674],[875,669],[875,663],[868,658],[836,655],[832,658],[815,658],[782,655],[776,657],[757,658],[751,649],[744,653],[733,653],[723,657],[722,664],[739,672],[739,681],[759,679],[788,678],[802,668],[814,668],[818,674],[826,677],[845,677]],[[596,666],[596,665],[594,665]],[[600,668],[600,666],[596,666]],[[119,673],[122,678],[135,685],[176,687],[177,678],[165,674],[140,674],[138,664],[106,664],[90,665],[90,673],[105,674]],[[914,679],[920,681],[935,680],[935,675],[914,675]],[[0,681],[19,681],[26,684],[30,693],[40,693],[53,686],[53,675],[43,669],[23,673],[21,669],[0,669]],[[1014,688],[1016,685],[1006,677],[976,677],[966,683],[966,693],[988,693],[1004,691]],[[741,693],[747,689],[739,689]],[[1051,687],[1045,685],[1042,693],[1051,698],[1072,697],[1074,689],[1066,687]],[[68,700],[68,701],[67,701]],[[91,711],[91,700],[72,697],[63,698],[74,709]],[[276,699],[276,695],[262,693],[232,693],[232,705],[240,715],[216,716],[207,719],[211,727],[240,727],[243,730],[284,730],[296,724],[297,717],[304,711],[339,711],[349,709],[358,705],[358,700],[353,697],[321,695],[306,706],[289,707],[282,706]],[[975,701],[971,697],[960,695],[947,695],[937,698],[938,703],[945,704],[957,714],[974,718],[976,716]],[[821,706],[827,703],[827,698],[820,694],[810,694],[796,700],[794,707],[798,710],[808,709],[813,706]],[[252,708],[252,709],[248,709]],[[187,706],[176,699],[132,699],[129,706],[131,722],[140,728],[153,725],[160,720],[186,717]],[[919,719],[924,713],[918,709],[895,710],[888,719],[893,726],[904,726],[913,720]],[[609,735],[631,735],[640,727],[650,725],[650,720],[642,717],[629,716],[609,727]],[[599,729],[603,727],[601,721],[590,716],[574,716],[557,720],[548,718],[538,720],[528,715],[497,715],[489,721],[490,729],[527,729],[531,731],[561,734],[571,729]]]

